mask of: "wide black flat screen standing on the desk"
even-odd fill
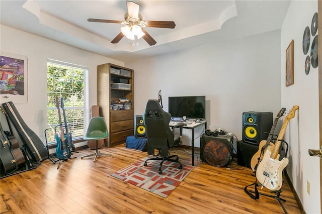
[[[172,117],[206,118],[206,96],[169,96]]]

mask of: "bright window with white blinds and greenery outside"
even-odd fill
[[[71,133],[73,141],[83,139],[89,123],[88,70],[83,66],[47,60],[48,144],[56,143],[56,133],[60,136],[58,108],[61,124],[66,119],[67,131]],[[65,126],[62,127],[66,134]]]

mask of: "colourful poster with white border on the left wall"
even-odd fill
[[[28,102],[27,57],[0,52],[0,103]]]

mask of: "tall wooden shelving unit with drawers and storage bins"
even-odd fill
[[[113,147],[125,143],[134,132],[133,70],[107,63],[98,66],[97,79],[100,114],[109,124],[105,146]],[[120,98],[127,101],[121,102]]]

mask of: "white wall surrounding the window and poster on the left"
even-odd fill
[[[28,103],[15,104],[21,117],[45,144],[47,128],[47,58],[89,69],[90,106],[97,104],[97,65],[123,62],[1,25],[1,50],[28,60]],[[108,81],[108,80],[107,80]]]

